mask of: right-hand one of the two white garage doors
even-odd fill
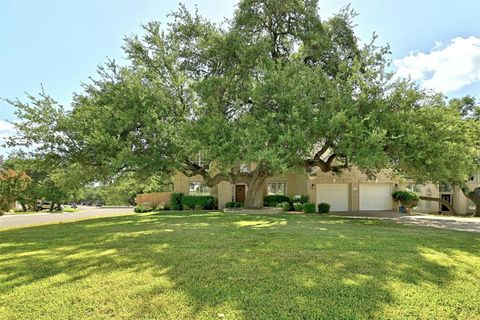
[[[389,184],[360,184],[360,210],[391,210],[392,194]]]

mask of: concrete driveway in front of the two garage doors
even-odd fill
[[[480,218],[442,217],[420,213],[405,214],[395,211],[335,212],[332,215],[350,218],[386,219],[421,227],[480,232]]]

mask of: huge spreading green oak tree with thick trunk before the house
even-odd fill
[[[92,179],[129,173],[246,183],[263,205],[268,177],[290,170],[465,181],[478,131],[444,97],[392,81],[388,48],[360,45],[346,8],[322,21],[317,1],[240,1],[216,25],[185,7],[126,39],[66,111],[45,93],[17,107],[13,144],[79,163]],[[198,155],[201,161],[196,161]],[[240,170],[239,164],[251,164]],[[454,165],[452,165],[454,164]]]

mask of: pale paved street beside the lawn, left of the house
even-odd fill
[[[117,216],[133,213],[133,208],[79,207],[75,213],[34,213],[0,216],[0,229],[25,227],[37,224],[58,223],[89,218]]]

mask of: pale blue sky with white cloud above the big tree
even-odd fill
[[[212,21],[231,17],[237,1],[182,0]],[[68,106],[81,83],[108,58],[125,62],[125,36],[148,21],[168,22],[179,1],[0,0],[0,98],[26,101],[45,91]],[[351,4],[359,38],[389,44],[396,74],[449,97],[480,99],[480,0],[320,0],[326,19]],[[0,144],[14,109],[0,101]],[[1,147],[0,147],[1,148]],[[0,150],[2,154],[5,150]]]

